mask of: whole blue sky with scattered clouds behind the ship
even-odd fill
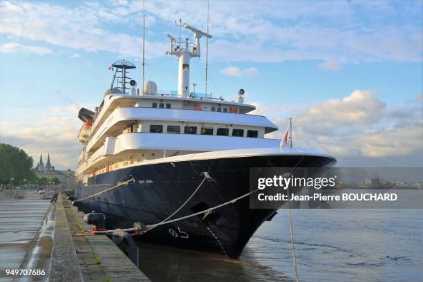
[[[292,118],[296,147],[344,167],[422,167],[422,1],[209,1],[209,92],[244,88],[256,114]],[[146,79],[176,90],[174,21],[207,29],[207,1],[146,0]],[[188,30],[182,37],[192,38]],[[205,40],[191,60],[204,91]],[[0,142],[75,169],[77,111],[127,59],[141,81],[142,1],[0,1]]]

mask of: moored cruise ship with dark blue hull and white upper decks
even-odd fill
[[[330,167],[336,160],[265,138],[278,126],[250,114],[256,107],[245,103],[243,89],[235,101],[191,92],[190,59],[200,57],[200,38],[212,36],[183,27],[194,33],[193,43],[168,35],[178,91],[160,93],[152,81],[138,88],[129,77],[135,66],[122,59],[111,66],[100,106],[79,111],[84,147],[75,197],[84,212],[106,216],[106,229],[146,227],[133,232],[135,240],[238,258],[276,214],[240,198],[250,192],[250,168]],[[171,222],[148,228],[164,220]]]

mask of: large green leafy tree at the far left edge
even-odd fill
[[[22,184],[24,179],[32,181],[34,160],[25,151],[9,144],[0,143],[0,183],[8,184],[14,178],[15,184]]]

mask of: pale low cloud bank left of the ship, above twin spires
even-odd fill
[[[75,169],[82,144],[77,141],[80,122],[76,104],[46,109],[8,109],[19,113],[21,120],[0,122],[0,142],[20,147],[34,163],[39,153],[50,152],[50,159],[57,169]]]

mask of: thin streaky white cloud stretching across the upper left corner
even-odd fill
[[[45,41],[54,46],[86,50],[110,51],[124,56],[140,54],[140,37],[111,32],[102,28],[103,8],[82,5],[77,8],[38,2],[0,3],[0,32],[32,41]],[[113,14],[113,11],[109,10]],[[153,44],[154,47],[151,47]],[[167,44],[146,43],[147,55],[164,54]]]

